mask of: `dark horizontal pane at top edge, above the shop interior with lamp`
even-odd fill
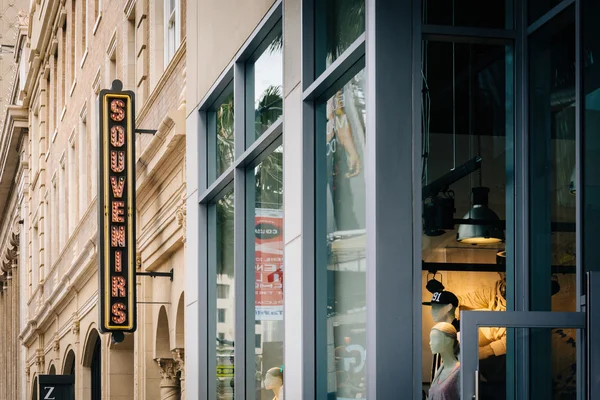
[[[430,25],[510,29],[513,0],[423,0],[423,22]]]

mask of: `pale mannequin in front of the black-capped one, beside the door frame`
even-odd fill
[[[429,346],[433,354],[442,358],[442,366],[436,371],[431,387],[429,400],[459,400],[460,399],[460,363],[456,328],[448,322],[436,324],[429,335]]]

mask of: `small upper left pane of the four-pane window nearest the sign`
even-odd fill
[[[214,182],[233,163],[233,88],[230,85],[207,113],[208,180]]]

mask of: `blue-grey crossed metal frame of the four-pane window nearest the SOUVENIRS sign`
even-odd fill
[[[168,1],[168,0],[167,0]],[[166,13],[165,13],[166,14]],[[165,19],[165,21],[167,21]],[[166,22],[165,22],[166,24]],[[254,110],[254,101],[246,101],[246,70],[245,64],[254,52],[267,38],[267,35],[278,25],[283,24],[283,2],[277,0],[258,24],[253,33],[235,55],[231,63],[224,69],[215,84],[208,91],[198,106],[198,152],[199,152],[199,296],[206,295],[205,306],[199,304],[199,343],[200,363],[199,396],[201,398],[214,398],[216,393],[216,346],[214,332],[216,332],[216,270],[215,260],[211,260],[216,240],[214,238],[215,210],[214,204],[226,193],[233,189],[234,196],[234,281],[230,290],[234,292],[234,326],[235,326],[235,393],[242,398],[254,399],[256,365],[255,365],[255,321],[246,316],[254,315],[254,273],[248,271],[247,239],[250,218],[249,209],[254,203],[247,200],[246,185],[247,175],[254,172],[254,167],[268,157],[283,141],[283,116],[280,117],[269,129],[249,146],[246,146],[246,115],[251,107]],[[216,168],[216,155],[211,151],[209,140],[211,131],[209,113],[213,106],[223,99],[224,91],[229,85],[233,87],[234,104],[234,159],[232,164],[219,176],[212,173],[209,168]],[[209,146],[210,144],[210,146]],[[213,147],[214,148],[214,147]],[[213,154],[211,154],[213,153]],[[204,171],[203,171],[204,170]],[[253,228],[252,223],[251,227]],[[253,229],[250,233],[253,236]],[[253,257],[253,256],[252,256]],[[206,273],[205,276],[202,276]]]

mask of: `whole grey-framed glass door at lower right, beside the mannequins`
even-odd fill
[[[583,312],[463,311],[460,398],[566,400],[584,398],[583,360],[577,341]],[[502,356],[482,353],[490,332],[505,332]]]

